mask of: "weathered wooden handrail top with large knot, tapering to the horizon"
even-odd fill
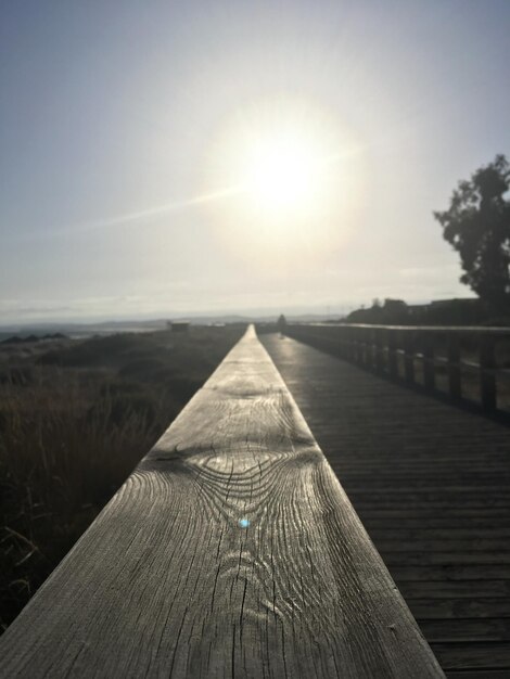
[[[253,329],[0,655],[30,679],[443,676]]]

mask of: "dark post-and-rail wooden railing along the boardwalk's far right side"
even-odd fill
[[[284,332],[408,385],[510,410],[510,328],[314,323]]]

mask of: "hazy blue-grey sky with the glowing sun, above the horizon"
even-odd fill
[[[0,324],[472,296],[507,0],[3,0]]]

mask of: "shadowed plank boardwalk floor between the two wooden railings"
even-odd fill
[[[510,430],[262,335],[447,676],[510,677]]]

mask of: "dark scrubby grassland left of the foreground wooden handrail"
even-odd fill
[[[0,629],[241,336],[242,326],[0,349]]]

